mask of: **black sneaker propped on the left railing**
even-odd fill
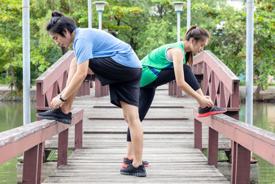
[[[64,112],[62,112],[60,107],[58,109],[51,109],[45,112],[39,112],[36,114],[36,116],[41,119],[54,119],[65,124],[72,123],[72,112],[65,114]]]

